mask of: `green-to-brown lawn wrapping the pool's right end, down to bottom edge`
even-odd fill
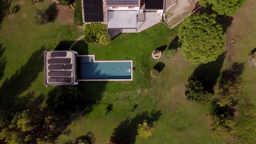
[[[110,139],[122,143],[222,143],[222,139],[210,136],[206,116],[209,107],[185,99],[185,83],[196,65],[184,61],[180,51],[173,59],[151,57],[155,49],[172,47],[170,44],[176,35],[177,28],[170,30],[159,23],[141,33],[121,34],[109,45],[87,45],[80,41],[74,50],[81,55],[93,54],[96,60],[132,60],[133,81],[105,83],[100,103],[88,116],[69,125],[71,133],[61,135],[57,143],[75,140],[87,133],[94,134],[95,143],[106,143]],[[68,41],[63,41],[65,43]],[[152,79],[150,70],[159,62],[165,67],[158,79]],[[212,69],[217,67],[219,73],[222,62],[213,63]],[[80,88],[88,87],[86,85],[91,83],[79,82]],[[98,91],[98,87],[90,88]],[[105,117],[104,110],[109,104],[113,104],[113,109]],[[152,121],[153,135],[148,140],[139,138],[137,124],[154,112],[159,116]]]

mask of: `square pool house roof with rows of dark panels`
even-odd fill
[[[77,85],[75,82],[75,51],[44,52],[44,84]]]

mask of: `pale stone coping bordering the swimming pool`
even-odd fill
[[[131,79],[90,79],[90,80],[79,80],[77,79],[77,77],[75,77],[76,81],[132,81],[133,80],[133,65],[132,65],[132,61],[95,61],[95,55],[77,55],[76,57],[89,57],[89,61],[88,62],[93,62],[93,63],[97,63],[97,62],[131,62]],[[92,59],[90,59],[92,58]],[[91,61],[90,61],[91,60]],[[77,72],[77,70],[75,70],[75,72]],[[77,75],[77,74],[75,74]]]

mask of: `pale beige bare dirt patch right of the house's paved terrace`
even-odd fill
[[[172,27],[184,17],[189,15],[198,5],[198,0],[179,0],[164,15],[164,21]]]

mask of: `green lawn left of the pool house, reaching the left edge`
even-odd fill
[[[2,47],[1,50],[4,50],[0,63],[0,75],[2,78],[0,79],[0,86],[6,79],[11,79],[13,75],[19,74],[22,67],[26,65],[28,59],[37,50],[42,47],[44,47],[44,50],[54,50],[60,40],[74,40],[80,35],[76,28],[68,25],[63,26],[61,23],[36,24],[34,20],[36,9],[48,9],[52,3],[52,1],[48,0],[36,5],[32,4],[30,0],[11,2],[10,8],[19,4],[20,10],[16,14],[4,17],[0,26],[0,45]],[[28,87],[24,89],[26,90],[24,94],[35,91],[35,95],[46,95],[51,90],[51,87],[45,88],[42,83],[43,68],[39,71],[35,70],[37,65],[42,66],[39,61],[43,61],[43,57],[33,59],[30,62],[30,68],[22,71],[19,79],[12,80],[13,83],[10,83],[10,85],[13,87],[9,90],[13,91],[14,87],[22,87],[21,89]],[[5,67],[3,67],[4,64]],[[32,73],[36,75],[33,78],[34,80],[24,81],[23,78],[30,78]]]

